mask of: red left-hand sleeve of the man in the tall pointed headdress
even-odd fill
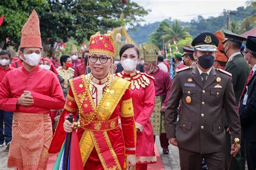
[[[0,110],[14,112],[19,98],[10,98],[11,91],[9,87],[10,84],[7,73],[0,84]]]

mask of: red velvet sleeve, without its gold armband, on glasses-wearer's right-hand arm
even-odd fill
[[[131,99],[131,94],[130,94],[130,88],[129,88],[125,91],[122,97],[122,102],[130,99]],[[122,131],[124,135],[125,154],[135,154],[136,153],[136,128],[135,128],[133,115],[129,117],[124,117],[124,115],[121,114],[120,118],[121,118]]]

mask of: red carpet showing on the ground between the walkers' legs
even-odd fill
[[[164,166],[163,166],[163,163],[161,161],[161,157],[160,157],[160,153],[157,149],[157,145],[154,144],[154,153],[156,153],[156,157],[157,157],[157,162],[156,164],[149,164],[147,165],[147,169],[148,170],[164,170]],[[57,159],[57,153],[56,154],[50,154],[49,155],[49,161],[48,161],[48,165],[47,165],[47,169],[52,169],[56,159]]]

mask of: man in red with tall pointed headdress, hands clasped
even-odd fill
[[[65,100],[55,73],[41,69],[41,33],[35,10],[21,31],[23,66],[6,74],[0,84],[0,109],[14,112],[8,167],[46,169],[52,139],[50,109]]]

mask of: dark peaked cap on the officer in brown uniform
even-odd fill
[[[217,51],[218,44],[218,38],[211,32],[201,33],[191,43],[198,51]]]

